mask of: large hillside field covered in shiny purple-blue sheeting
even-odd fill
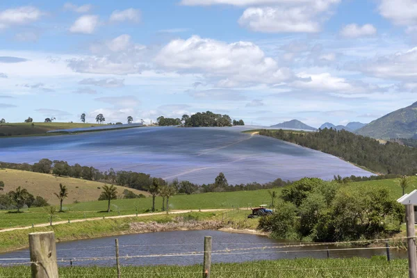
[[[140,127],[68,136],[0,138],[0,161],[63,160],[108,170],[144,172],[163,179],[229,183],[281,178],[370,176],[339,158],[288,142],[241,133],[247,128]]]

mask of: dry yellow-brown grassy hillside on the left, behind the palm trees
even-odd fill
[[[21,170],[3,169],[0,170],[0,181],[6,186],[4,193],[15,190],[18,186],[26,188],[33,196],[40,195],[48,200],[49,204],[59,204],[58,198],[54,193],[58,192],[59,183],[67,186],[69,190],[67,203],[97,201],[101,193],[101,187],[105,183],[97,181],[87,181],[84,179],[74,179],[69,177],[56,177],[52,174],[41,174]],[[124,189],[129,189],[135,194],[148,196],[149,193],[132,188],[117,186],[117,193],[123,193]]]

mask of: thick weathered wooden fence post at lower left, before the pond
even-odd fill
[[[58,278],[53,231],[29,234],[29,250],[32,278]]]

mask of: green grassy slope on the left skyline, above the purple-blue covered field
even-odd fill
[[[70,122],[34,122],[32,123],[8,123],[0,124],[0,133],[11,134],[11,136],[27,136],[27,135],[39,135],[47,133],[47,131],[53,131],[57,129],[76,129],[87,128],[91,126],[102,126],[102,124],[83,124],[83,123],[70,123]]]

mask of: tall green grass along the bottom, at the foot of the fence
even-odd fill
[[[201,277],[202,266],[122,266],[122,277],[188,278]],[[117,275],[114,267],[59,268],[60,277],[108,277]],[[27,266],[0,268],[0,277],[30,277]],[[211,266],[213,278],[309,278],[309,277],[359,277],[400,278],[408,277],[407,260],[388,263],[384,257],[373,259],[294,259],[278,261],[254,261],[247,263],[216,263]]]

